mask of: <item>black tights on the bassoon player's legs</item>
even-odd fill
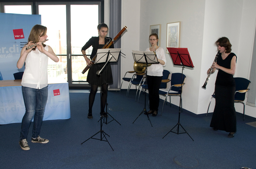
[[[102,97],[101,97],[101,108],[100,112],[103,113],[107,101],[107,84],[102,84],[101,86],[102,90]],[[98,91],[98,85],[91,85],[91,92],[89,94],[89,114],[92,113],[92,106],[95,99],[95,95]]]

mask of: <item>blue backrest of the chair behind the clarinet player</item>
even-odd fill
[[[236,91],[248,89],[248,86],[251,83],[250,80],[242,78],[242,77],[234,77],[234,80],[236,82]],[[236,92],[235,100],[244,101],[245,94],[246,94],[246,92],[245,93]]]

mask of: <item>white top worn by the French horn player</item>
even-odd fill
[[[149,48],[147,48],[146,51],[150,51]],[[158,47],[158,49],[156,49],[156,56],[157,56],[157,59],[164,61],[165,64],[161,65],[160,63],[155,63],[155,64],[152,64],[151,66],[148,66],[147,74],[150,76],[163,76],[163,66],[166,65],[166,59],[165,59],[165,51],[162,47]]]

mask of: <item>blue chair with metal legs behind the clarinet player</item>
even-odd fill
[[[244,105],[243,101],[245,99],[245,93],[250,90],[250,89],[248,89],[248,86],[251,83],[251,81],[248,80],[248,79],[242,78],[242,77],[234,77],[234,80],[236,82],[235,103],[242,103]],[[214,93],[211,96],[211,100],[213,98],[215,98]],[[209,111],[211,100],[210,100],[210,103],[209,103],[209,106],[208,106],[208,109],[207,109],[206,116],[207,116],[208,111]],[[245,105],[244,105],[244,108],[245,108]],[[243,112],[243,121],[244,121],[244,112]]]

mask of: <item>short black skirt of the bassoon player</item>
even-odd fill
[[[113,83],[112,70],[111,66],[108,63],[100,75],[97,75],[96,72],[101,70],[105,63],[102,64],[93,64],[88,70],[87,82],[92,85],[102,85]]]

